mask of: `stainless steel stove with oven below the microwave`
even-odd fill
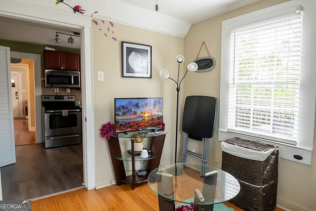
[[[45,148],[81,143],[81,108],[74,95],[42,95],[41,104]]]

